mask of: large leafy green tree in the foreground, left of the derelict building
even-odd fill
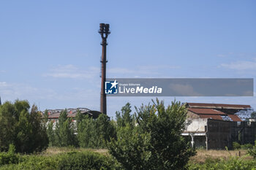
[[[163,101],[136,108],[134,128],[118,130],[117,140],[108,144],[110,154],[124,169],[186,169],[195,150],[181,133],[187,127],[187,109]]]

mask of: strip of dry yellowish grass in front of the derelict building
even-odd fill
[[[223,158],[227,160],[230,158],[230,156],[239,156],[239,151],[240,151],[240,156],[243,157],[244,155],[247,155],[247,150],[197,150],[197,155],[193,156],[190,158],[190,161],[192,163],[205,163],[205,161],[208,158],[212,159],[219,159]],[[253,159],[252,156],[246,156],[245,159]]]

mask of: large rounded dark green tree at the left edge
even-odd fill
[[[0,151],[14,144],[17,152],[40,152],[48,147],[46,128],[36,106],[28,101],[7,101],[0,106]]]

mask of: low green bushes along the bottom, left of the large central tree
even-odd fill
[[[115,162],[108,155],[95,152],[67,152],[58,155],[25,155],[20,158],[19,164],[1,166],[0,169],[116,169]]]

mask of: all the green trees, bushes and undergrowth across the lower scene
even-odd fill
[[[196,162],[202,156],[194,156],[195,149],[181,136],[187,127],[187,109],[180,102],[165,107],[163,101],[153,101],[136,107],[134,115],[127,103],[116,112],[116,122],[107,115],[93,119],[78,112],[74,123],[64,110],[57,123],[48,125],[48,112],[40,115],[37,107],[29,108],[28,101],[18,100],[0,106],[0,170],[256,169],[256,144],[234,142],[239,155],[240,150],[247,154],[242,157],[213,157],[215,151],[206,151],[212,158]],[[63,151],[41,152],[48,142]],[[108,150],[97,152],[81,147]]]

